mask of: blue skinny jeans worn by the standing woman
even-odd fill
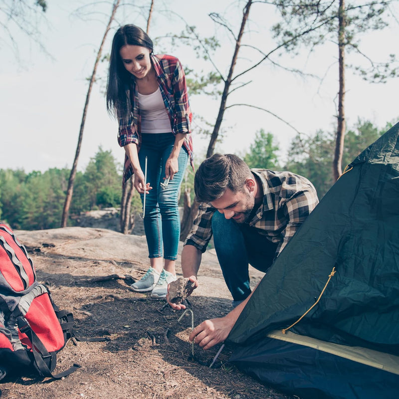
[[[153,188],[146,194],[144,231],[150,258],[176,260],[180,238],[179,194],[189,155],[182,147],[178,163],[179,172],[163,190],[165,164],[175,144],[173,133],[143,133],[139,151],[140,167],[145,172],[147,157],[147,182]],[[143,202],[144,195],[141,195]]]

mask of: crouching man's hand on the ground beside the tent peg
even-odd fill
[[[194,341],[205,350],[223,342],[235,323],[235,320],[228,316],[203,321],[192,331],[189,340]]]

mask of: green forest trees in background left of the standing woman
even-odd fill
[[[85,172],[76,174],[70,214],[119,206],[122,177],[118,170],[111,152],[100,147]],[[16,229],[59,227],[69,174],[68,169],[56,168],[29,174],[23,170],[0,169],[1,219]]]

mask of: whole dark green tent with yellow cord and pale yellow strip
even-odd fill
[[[227,341],[240,370],[301,399],[399,398],[399,123],[348,165]]]

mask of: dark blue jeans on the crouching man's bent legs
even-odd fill
[[[274,260],[277,243],[269,241],[259,229],[236,223],[216,211],[212,216],[213,242],[224,281],[234,301],[250,293],[248,264],[266,272]]]

